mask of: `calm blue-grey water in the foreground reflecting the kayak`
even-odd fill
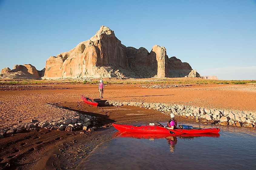
[[[112,139],[95,148],[78,168],[256,169],[256,130],[219,128],[221,131],[215,136],[115,133]]]

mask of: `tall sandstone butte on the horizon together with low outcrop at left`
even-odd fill
[[[155,45],[150,53],[143,47],[126,47],[105,26],[72,50],[49,57],[41,71],[30,64],[15,65],[13,70],[2,69],[0,77],[14,72],[29,79],[200,77],[188,63],[168,58],[165,47]]]

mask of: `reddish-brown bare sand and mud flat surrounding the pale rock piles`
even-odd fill
[[[110,107],[104,101],[143,101],[173,103],[208,108],[256,111],[256,85],[191,85],[150,89],[141,85],[105,85],[101,107],[89,106],[80,96],[98,98],[97,85],[47,84],[2,86],[0,91],[0,127],[21,119],[43,120],[60,116],[55,110],[45,110],[46,104],[63,106],[71,111],[98,117],[96,132],[74,132],[38,129],[0,139],[0,165],[11,169],[49,169],[75,167],[97,144],[108,138],[111,123],[145,123],[166,121],[168,116],[133,106]],[[30,90],[32,89],[32,90]],[[47,114],[49,113],[49,114]],[[194,121],[179,118],[178,121]],[[137,123],[138,124],[138,123]],[[81,145],[89,145],[82,149]],[[79,149],[79,152],[72,153]],[[81,151],[81,152],[80,152]],[[70,154],[70,155],[68,155]]]

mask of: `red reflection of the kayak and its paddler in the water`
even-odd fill
[[[194,137],[219,137],[219,133],[204,133],[204,134],[161,134],[161,133],[136,133],[136,132],[116,132],[112,136],[114,137],[130,137],[130,138],[137,138],[137,139],[167,139],[168,144],[170,145],[170,152],[174,152],[175,145],[177,144],[177,137],[180,139],[193,139]]]

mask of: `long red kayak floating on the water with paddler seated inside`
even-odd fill
[[[122,132],[138,132],[138,133],[167,133],[167,134],[194,134],[194,133],[218,133],[220,131],[219,128],[194,128],[190,130],[185,129],[175,129],[169,130],[160,125],[121,125],[112,123],[112,125],[119,131]]]

